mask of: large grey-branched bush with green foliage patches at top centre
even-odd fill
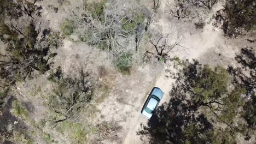
[[[137,3],[137,2],[136,2]],[[144,21],[144,14],[136,7],[120,7],[130,4],[122,1],[86,2],[83,12],[75,14],[75,31],[78,38],[101,50],[117,56],[127,52],[124,39],[136,34]]]

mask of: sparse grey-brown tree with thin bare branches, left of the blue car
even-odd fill
[[[53,82],[53,93],[49,97],[48,105],[55,113],[63,116],[61,119],[51,119],[54,123],[73,120],[82,107],[89,106],[92,99],[91,77],[83,67],[73,76],[64,76],[59,67],[48,79]]]

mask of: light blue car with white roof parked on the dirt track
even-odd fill
[[[158,107],[158,104],[160,103],[160,100],[162,99],[162,96],[164,95],[164,92],[161,91],[160,88],[154,87],[152,91],[150,92],[142,110],[141,114],[150,119],[153,115],[153,113],[156,110],[156,107]]]

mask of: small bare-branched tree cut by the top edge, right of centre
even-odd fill
[[[185,17],[189,17],[189,5],[191,1],[189,0],[174,0],[174,3],[170,3],[167,1],[165,12],[171,14],[173,17],[177,17],[178,19],[183,19]]]

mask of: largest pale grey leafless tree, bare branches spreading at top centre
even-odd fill
[[[104,5],[101,16],[92,16],[87,9],[82,9],[80,14],[75,14],[74,24],[78,28],[78,35],[84,38],[89,45],[98,45],[104,50],[117,55],[126,51],[121,43],[128,34],[135,33],[136,28],[125,29],[126,23],[134,17],[129,9],[120,7],[118,1],[109,1]]]

